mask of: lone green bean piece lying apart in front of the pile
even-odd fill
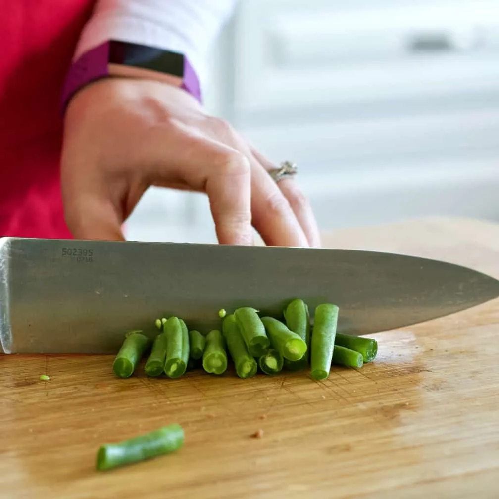
[[[170,425],[123,442],[104,444],[97,451],[96,468],[111,470],[177,451],[184,445],[184,430]]]

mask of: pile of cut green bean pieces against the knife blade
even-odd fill
[[[222,309],[218,316],[220,329],[207,335],[188,330],[179,317],[156,319],[159,333],[152,341],[141,330],[130,331],[114,361],[114,373],[128,378],[149,352],[144,372],[151,377],[179,378],[198,367],[221,375],[232,359],[236,374],[243,379],[258,370],[274,375],[309,369],[313,379],[322,380],[329,376],[331,365],[359,369],[378,353],[375,339],[336,332],[339,308],[331,303],[315,308],[313,327],[308,305],[301,299],[286,306],[283,321],[260,317],[251,307],[233,313]]]

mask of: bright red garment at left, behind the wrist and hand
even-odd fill
[[[60,97],[94,1],[0,0],[0,237],[71,237]]]

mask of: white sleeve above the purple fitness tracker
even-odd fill
[[[201,84],[206,56],[238,0],[98,0],[74,59],[109,39],[183,53]]]

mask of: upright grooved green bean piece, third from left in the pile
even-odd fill
[[[179,378],[186,372],[189,361],[189,331],[178,317],[170,317],[163,328],[166,335],[165,374],[169,378]]]

